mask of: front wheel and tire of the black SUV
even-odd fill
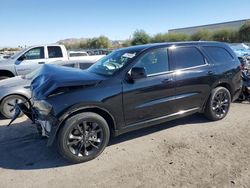
[[[65,159],[82,163],[99,156],[109,137],[110,130],[105,119],[96,113],[84,112],[66,120],[59,130],[57,146]]]

